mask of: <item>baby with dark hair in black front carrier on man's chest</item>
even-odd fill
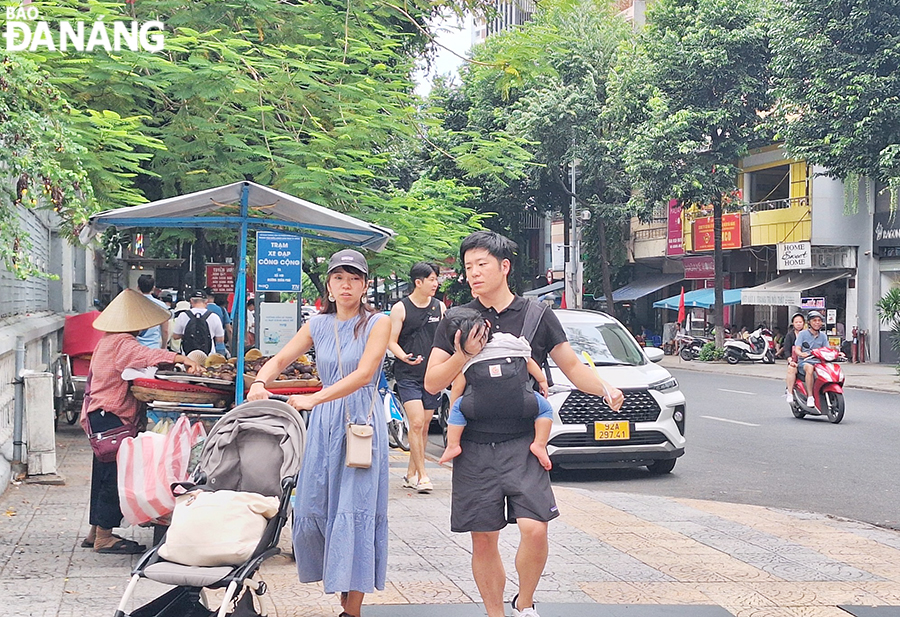
[[[531,344],[525,337],[492,333],[490,324],[475,309],[450,309],[444,319],[448,322],[451,340],[459,332],[459,340],[464,344],[472,330],[481,329],[482,340],[486,342],[481,352],[466,362],[453,381],[450,400],[454,402],[447,420],[447,447],[440,463],[446,463],[462,452],[460,440],[468,420],[477,421],[483,429],[490,429],[491,421],[499,418],[507,424],[495,425],[495,428],[514,427],[516,430],[524,427],[523,421],[527,420],[529,424],[533,421],[531,452],[541,466],[549,470],[552,465],[547,455],[547,440],[553,425],[553,408],[544,398],[548,394],[547,377],[531,357]],[[468,350],[463,348],[463,351],[468,355]],[[544,396],[534,391],[529,375],[538,383]],[[530,426],[528,430],[531,430]],[[508,437],[508,434],[504,436]]]

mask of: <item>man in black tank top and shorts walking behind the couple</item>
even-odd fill
[[[391,339],[388,349],[396,356],[394,377],[403,408],[409,418],[409,467],[403,486],[419,493],[434,489],[425,471],[425,444],[428,426],[440,395],[425,391],[425,366],[444,305],[434,299],[438,288],[438,267],[424,261],[413,264],[409,280],[412,293],[391,307]]]

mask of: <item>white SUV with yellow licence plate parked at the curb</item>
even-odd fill
[[[662,350],[642,349],[606,313],[554,313],[578,357],[587,352],[600,376],[622,390],[625,403],[614,412],[601,397],[575,389],[550,359],[554,413],[547,451],[553,466],[672,471],[684,454],[685,402],[675,378],[655,364],[662,359]]]

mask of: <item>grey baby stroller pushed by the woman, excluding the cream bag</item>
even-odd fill
[[[263,597],[266,584],[254,576],[266,559],[281,552],[278,538],[291,507],[305,443],[306,427],[300,414],[284,402],[252,401],[222,416],[206,437],[191,482],[181,486],[278,497],[278,513],[268,521],[252,556],[233,566],[201,567],[168,562],[159,555],[163,539],[138,561],[115,617],[129,615],[126,608],[142,578],[175,587],[135,609],[130,617],[265,616],[268,613],[268,602]],[[218,610],[210,610],[205,589],[221,588],[226,589],[222,604]],[[254,608],[254,596],[258,599],[259,612]]]

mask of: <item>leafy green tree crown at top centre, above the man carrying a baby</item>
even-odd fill
[[[462,69],[460,85],[432,91],[431,104],[443,118],[430,132],[441,145],[432,152],[433,172],[477,184],[479,211],[495,213],[486,224],[521,244],[523,213],[568,213],[571,162],[580,159],[580,207],[597,214],[601,226],[621,225],[628,185],[613,127],[601,111],[608,71],[629,32],[609,2],[552,0],[538,6],[531,22],[489,37]],[[493,147],[479,142],[485,137]],[[472,173],[458,156],[469,151],[489,159],[481,167],[491,169],[489,177]],[[503,168],[508,173],[500,176]],[[589,264],[609,262],[600,245],[586,242]],[[591,274],[601,278],[599,267]]]

